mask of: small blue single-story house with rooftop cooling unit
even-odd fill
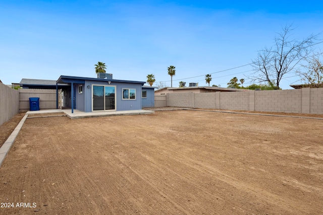
[[[57,92],[59,84],[68,86],[62,89],[62,106],[71,108],[72,113],[74,109],[123,111],[154,106],[153,87],[143,87],[145,82],[140,81],[116,80],[112,74],[98,74],[98,78],[61,76],[56,83]]]

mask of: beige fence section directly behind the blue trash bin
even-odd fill
[[[29,110],[29,98],[39,97],[39,108],[56,109],[56,90],[19,89],[19,111]]]

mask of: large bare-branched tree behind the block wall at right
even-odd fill
[[[258,56],[252,60],[255,70],[252,81],[267,82],[279,89],[282,78],[290,73],[295,66],[313,52],[314,42],[318,35],[310,35],[303,40],[290,39],[292,26],[285,26],[274,39],[274,46],[258,51]]]

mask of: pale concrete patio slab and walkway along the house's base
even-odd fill
[[[82,112],[74,110],[72,113],[71,109],[53,109],[53,110],[37,110],[28,111],[26,114],[32,116],[33,114],[46,114],[46,113],[64,113],[71,119],[80,119],[86,117],[102,117],[102,116],[122,116],[122,115],[141,115],[151,114],[154,111],[151,110],[124,110],[124,111],[98,111],[98,112]]]

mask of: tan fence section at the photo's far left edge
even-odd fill
[[[19,111],[19,92],[0,83],[0,125]]]

